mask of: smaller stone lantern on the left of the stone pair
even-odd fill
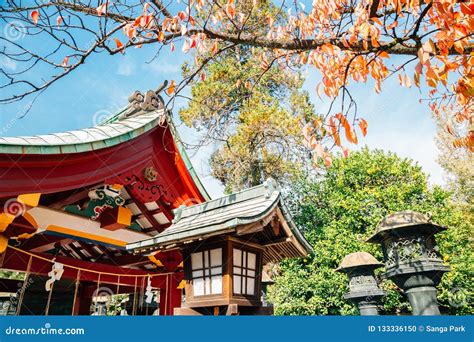
[[[383,266],[371,254],[357,252],[348,254],[342,259],[336,271],[347,273],[349,292],[344,299],[357,305],[362,316],[378,315],[377,304],[385,295],[375,280],[374,270]]]

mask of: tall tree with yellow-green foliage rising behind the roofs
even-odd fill
[[[237,6],[253,5],[242,1]],[[247,26],[257,33],[261,18],[275,13],[283,15],[270,2],[261,2]],[[228,25],[230,32],[234,29]],[[260,184],[270,176],[284,183],[307,162],[301,129],[315,115],[302,90],[303,78],[277,62],[271,51],[226,44],[219,44],[223,51],[207,64],[208,52],[196,52],[194,65],[183,66],[189,77],[196,65],[204,64],[180,118],[203,133],[201,144],[219,144],[211,169],[227,191]]]

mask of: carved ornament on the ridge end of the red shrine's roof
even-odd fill
[[[157,90],[148,90],[145,94],[135,90],[133,94],[128,97],[128,105],[119,115],[118,119],[123,120],[143,113],[163,109],[165,102],[159,93],[162,92],[167,85],[168,81],[165,80]]]

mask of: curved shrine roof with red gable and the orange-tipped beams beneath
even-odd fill
[[[148,258],[130,256],[125,245],[165,230],[173,209],[209,200],[158,92],[135,92],[123,110],[92,128],[1,137],[0,227],[8,227],[6,236],[29,234],[19,242],[32,252],[155,269]],[[40,194],[39,202],[10,213],[8,204],[21,204],[28,194]],[[110,221],[118,219],[116,212],[102,215],[119,207],[131,224]]]

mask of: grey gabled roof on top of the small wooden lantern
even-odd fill
[[[134,252],[169,250],[230,234],[265,248],[264,261],[302,257],[312,251],[294,224],[273,180],[191,207],[174,210],[172,225],[153,238],[131,243]]]

